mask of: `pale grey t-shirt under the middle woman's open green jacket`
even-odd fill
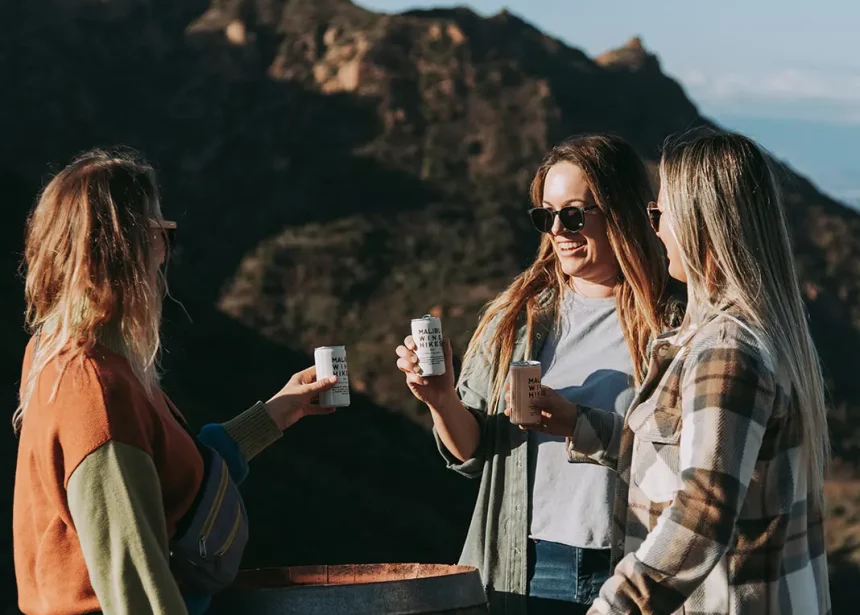
[[[615,299],[568,292],[561,324],[538,359],[542,382],[570,401],[622,416],[633,402],[633,361]],[[529,536],[573,547],[610,546],[615,473],[567,460],[564,438],[529,433]]]

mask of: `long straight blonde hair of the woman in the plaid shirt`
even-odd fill
[[[824,379],[775,168],[747,137],[705,134],[670,145],[660,174],[661,206],[669,214],[687,274],[685,327],[732,302],[764,334],[765,350],[792,383],[793,407],[807,443],[810,487],[820,498],[830,454]]]

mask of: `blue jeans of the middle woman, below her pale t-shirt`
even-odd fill
[[[529,540],[529,615],[584,614],[609,578],[609,553]]]

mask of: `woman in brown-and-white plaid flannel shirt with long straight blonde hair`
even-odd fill
[[[619,475],[618,563],[589,613],[828,614],[824,387],[771,164],[707,134],[660,174],[649,213],[686,320],[624,419],[545,401],[569,452]]]

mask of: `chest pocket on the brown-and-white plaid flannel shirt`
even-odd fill
[[[681,488],[680,408],[666,408],[647,400],[627,419],[636,434],[630,476],[651,502],[669,502]]]

